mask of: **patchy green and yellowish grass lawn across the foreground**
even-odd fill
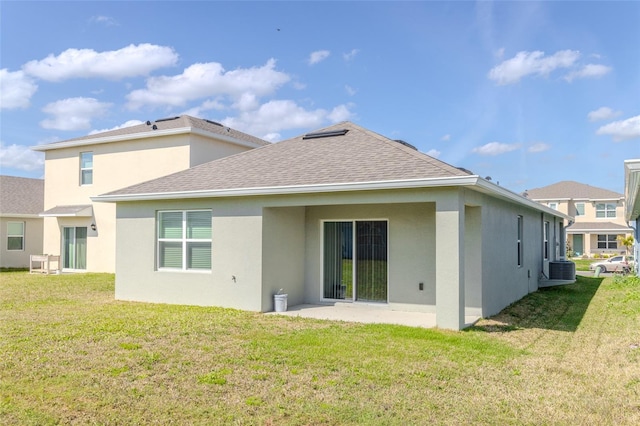
[[[640,423],[640,280],[579,277],[464,332],[113,300],[0,273],[0,424]]]

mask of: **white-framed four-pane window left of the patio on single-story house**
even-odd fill
[[[211,270],[211,210],[158,212],[158,269]]]

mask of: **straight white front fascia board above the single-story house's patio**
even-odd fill
[[[410,188],[434,188],[443,186],[469,186],[475,185],[478,176],[457,176],[448,178],[428,178],[394,180],[382,182],[353,182],[332,183],[318,185],[291,185],[258,188],[218,189],[206,191],[180,191],[148,194],[121,194],[98,195],[91,197],[92,201],[148,201],[148,200],[175,200],[187,198],[219,198],[219,197],[245,197],[259,195],[292,195],[314,194],[319,192],[346,192],[346,191],[371,191],[384,189],[410,189]]]

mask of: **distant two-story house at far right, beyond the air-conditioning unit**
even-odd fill
[[[573,181],[530,189],[527,197],[558,210],[575,221],[566,227],[574,256],[624,254],[619,238],[631,235],[624,218],[624,196]]]

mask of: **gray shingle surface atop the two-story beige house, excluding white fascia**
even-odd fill
[[[172,129],[182,129],[182,128],[199,129],[209,133],[219,134],[221,136],[247,141],[257,146],[264,146],[264,145],[270,144],[265,140],[249,135],[247,133],[240,132],[230,127],[226,127],[214,121],[195,118],[189,115],[181,115],[179,117],[170,117],[168,119],[158,119],[156,121],[149,121],[148,123],[149,124],[143,123],[135,126],[123,127],[121,129],[109,130],[107,132],[95,133],[92,135],[86,135],[78,138],[67,139],[64,141],[54,142],[46,145],[39,145],[34,148],[37,150],[48,150],[48,149],[55,149],[57,146],[65,146],[70,142],[81,143],[84,141],[87,144],[90,144],[91,142],[95,142],[97,139],[101,139],[101,138],[110,138],[110,137],[124,138],[126,136],[142,135],[145,133],[148,133],[149,136],[153,136],[154,131],[157,132],[162,130],[172,130]],[[155,130],[153,129],[153,126],[156,126]]]

